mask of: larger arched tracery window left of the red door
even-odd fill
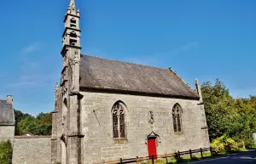
[[[113,138],[125,138],[125,104],[116,102],[112,108]]]

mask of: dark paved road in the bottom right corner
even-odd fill
[[[256,150],[241,152],[203,161],[193,161],[189,164],[256,164]]]

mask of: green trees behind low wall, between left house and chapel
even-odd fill
[[[15,110],[15,135],[24,133],[32,133],[34,135],[50,135],[51,134],[51,114],[39,113],[34,117],[24,114],[20,110]]]

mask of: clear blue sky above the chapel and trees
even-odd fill
[[[54,110],[69,0],[1,2],[0,99],[36,115]],[[76,0],[82,52],[162,68],[194,88],[220,78],[237,97],[256,94],[256,1]]]

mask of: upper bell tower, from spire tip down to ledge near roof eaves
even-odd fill
[[[63,70],[61,72],[61,85],[67,81],[67,67],[71,67],[72,76],[68,82],[70,94],[79,93],[79,65],[81,55],[80,33],[79,29],[80,12],[79,8],[75,7],[74,0],[70,0],[65,15],[64,23],[65,30],[62,34],[63,48],[61,54],[63,57]]]

